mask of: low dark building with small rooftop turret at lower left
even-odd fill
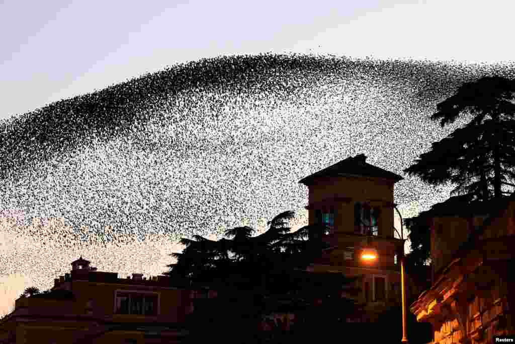
[[[169,277],[100,272],[80,257],[49,293],[19,298],[0,320],[0,343],[178,343],[191,293]]]

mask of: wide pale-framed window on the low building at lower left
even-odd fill
[[[116,293],[116,314],[157,315],[157,294]]]

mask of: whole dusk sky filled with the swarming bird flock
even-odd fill
[[[284,210],[297,212],[298,228],[307,221],[298,181],[349,155],[405,177],[395,190],[404,218],[444,201],[451,186],[402,169],[465,123],[427,119],[462,81],[513,76],[514,10],[506,1],[0,3],[0,142],[24,147],[0,147],[0,168],[28,161],[2,179],[0,210],[20,221],[0,228],[0,316],[26,287],[52,287],[79,255],[119,277],[158,275],[181,236],[262,231]],[[75,133],[77,112],[51,105],[179,63],[265,53],[293,62],[238,57],[245,78],[174,84],[164,98],[133,81],[142,94],[137,85],[148,86],[148,102],[133,110],[145,122],[128,119],[124,135],[95,121]],[[237,64],[216,61],[146,80],[224,75]],[[119,90],[109,92],[99,94],[114,100]],[[45,130],[63,145],[33,134],[40,115],[59,119]],[[31,226],[33,217],[64,225]]]

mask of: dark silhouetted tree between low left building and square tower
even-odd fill
[[[194,289],[205,286],[218,293],[215,299],[197,300],[191,318],[196,326],[202,323],[211,326],[205,333],[219,333],[224,324],[231,323],[232,339],[245,342],[242,338],[252,337],[249,334],[255,334],[266,314],[317,309],[325,319],[344,319],[354,310],[353,301],[341,297],[344,285],[353,280],[338,275],[328,281],[302,272],[324,247],[321,241],[307,240],[308,233],[325,228],[305,226],[291,232],[288,220],[293,217],[293,211],[282,212],[268,222],[266,232],[255,237],[250,236],[253,228],[244,226],[226,231],[233,239],[181,239],[186,248],[173,254],[177,263],[169,265],[167,274],[188,279]],[[328,320],[325,325],[336,322]]]

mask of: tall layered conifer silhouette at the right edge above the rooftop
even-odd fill
[[[503,186],[515,186],[514,99],[515,81],[503,77],[483,77],[462,85],[437,105],[431,119],[440,119],[443,127],[471,114],[471,122],[433,143],[431,151],[404,172],[433,185],[457,184],[453,195],[488,200],[508,194]]]

